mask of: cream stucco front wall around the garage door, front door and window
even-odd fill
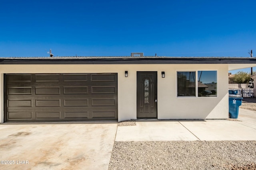
[[[177,97],[177,71],[197,70],[217,70],[218,97]],[[118,121],[136,119],[137,71],[158,72],[158,119],[228,118],[228,64],[6,64],[0,68],[0,122],[5,73],[118,73]]]

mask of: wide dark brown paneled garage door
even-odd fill
[[[5,74],[5,121],[117,120],[117,74]]]

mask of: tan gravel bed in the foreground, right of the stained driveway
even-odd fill
[[[256,141],[115,142],[108,170],[255,170]]]

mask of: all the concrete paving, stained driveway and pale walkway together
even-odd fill
[[[107,170],[114,141],[256,141],[256,111],[240,109],[238,119],[2,123],[0,160],[9,164],[0,169]]]

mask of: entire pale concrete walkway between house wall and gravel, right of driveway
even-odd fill
[[[136,121],[118,127],[116,141],[256,140],[256,111],[240,109],[238,120]]]

